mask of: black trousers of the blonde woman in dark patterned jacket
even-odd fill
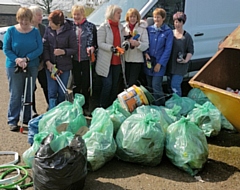
[[[74,88],[73,94],[81,93],[85,98],[84,109],[89,108],[89,97],[90,97],[90,65],[89,60],[84,61],[73,61],[73,81]]]

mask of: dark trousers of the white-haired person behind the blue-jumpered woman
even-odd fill
[[[38,71],[38,82],[40,83],[41,85],[41,88],[43,90],[43,93],[44,93],[44,96],[45,96],[45,99],[46,99],[46,102],[48,102],[48,90],[47,90],[47,77],[46,77],[46,72],[45,72],[45,69],[42,69],[40,71]],[[36,109],[36,100],[35,100],[35,92],[37,90],[37,86],[35,85],[35,89],[34,89],[34,92],[33,92],[33,111],[35,113],[37,113],[37,109]]]

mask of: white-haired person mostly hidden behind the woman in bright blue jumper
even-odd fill
[[[43,38],[43,35],[45,33],[46,27],[42,24],[42,15],[43,11],[38,6],[30,6],[29,9],[33,13],[33,19],[32,19],[32,26],[37,28],[40,31],[41,37]],[[48,91],[47,91],[47,77],[45,69],[43,68],[43,61],[42,56],[40,57],[40,65],[38,70],[38,82],[40,83],[43,93],[46,99],[46,102],[48,103]],[[35,90],[33,93],[33,112],[35,113],[35,116],[37,116],[37,110],[36,110],[36,101],[35,101],[35,92],[36,92],[37,86],[35,85]]]

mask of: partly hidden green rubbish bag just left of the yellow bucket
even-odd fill
[[[122,108],[118,99],[116,99],[113,104],[106,109],[106,111],[110,115],[110,118],[113,122],[113,133],[116,135],[120,125],[131,115],[131,113]]]

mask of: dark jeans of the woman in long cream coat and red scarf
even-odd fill
[[[109,107],[117,98],[118,81],[121,73],[121,65],[111,65],[107,77],[102,77],[102,91],[100,95],[100,106]]]

